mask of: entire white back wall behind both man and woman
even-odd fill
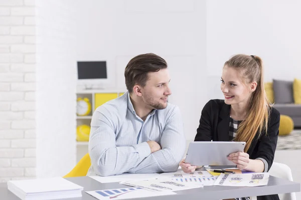
[[[182,110],[187,144],[204,104],[223,98],[221,70],[231,55],[262,57],[265,81],[301,76],[297,0],[89,2],[77,4],[77,59],[106,59],[110,86],[125,89],[130,58],[145,52],[164,57],[172,75],[170,101]]]

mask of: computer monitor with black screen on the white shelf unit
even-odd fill
[[[108,83],[106,61],[78,61],[78,84],[86,89],[101,88]]]

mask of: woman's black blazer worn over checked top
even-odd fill
[[[195,141],[229,141],[230,127],[230,105],[222,99],[212,99],[206,103],[202,110],[200,125],[197,129]],[[247,153],[250,159],[261,157],[268,163],[270,169],[277,145],[279,134],[280,113],[274,107],[269,111],[269,120],[267,134],[259,131],[252,140],[251,146]],[[237,196],[238,197],[238,196]],[[279,199],[277,194],[258,196],[258,200]]]

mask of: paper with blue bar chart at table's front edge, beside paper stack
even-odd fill
[[[176,194],[173,191],[149,191],[140,187],[127,187],[118,189],[103,189],[96,191],[86,191],[88,194],[98,199],[124,199],[124,198],[141,198],[147,196],[161,196]]]

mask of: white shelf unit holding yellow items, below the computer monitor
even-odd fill
[[[78,97],[82,97],[82,98],[87,97],[91,103],[91,112],[86,116],[77,116],[76,115],[76,126],[82,125],[82,124],[90,125],[93,112],[98,107],[98,105],[100,105],[110,99],[113,99],[114,97],[119,97],[123,93],[125,93],[124,89],[78,90],[76,92],[76,99]],[[116,94],[116,96],[114,94]],[[76,141],[76,161],[77,162],[86,153],[88,153],[88,144],[89,144],[88,141]]]

